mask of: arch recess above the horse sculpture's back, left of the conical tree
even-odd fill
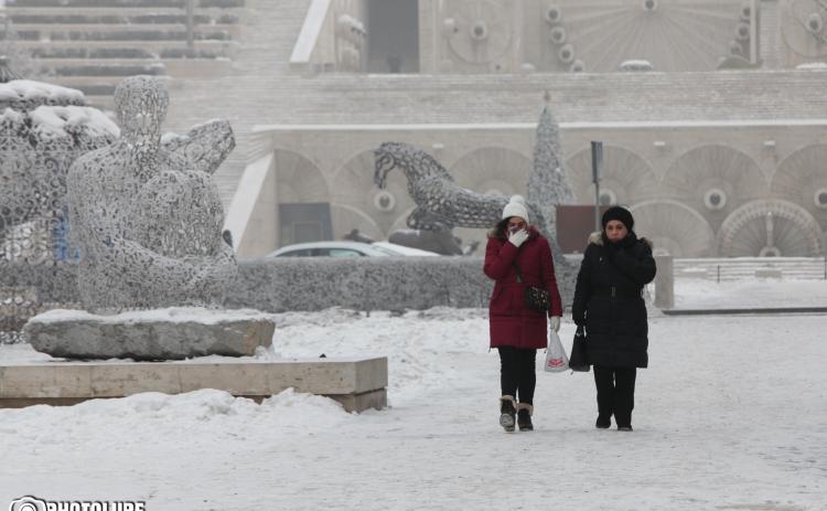
[[[482,147],[463,155],[449,173],[460,187],[475,192],[498,190],[506,196],[525,194],[531,159],[506,147]]]

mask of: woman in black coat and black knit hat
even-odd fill
[[[637,238],[629,210],[603,214],[603,231],[589,238],[577,276],[572,316],[586,327],[589,363],[598,388],[595,426],[632,430],[637,368],[648,365],[643,287],[655,278],[652,245]]]

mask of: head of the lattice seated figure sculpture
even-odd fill
[[[115,110],[122,137],[161,137],[170,95],[163,83],[147,75],[130,76],[115,89]]]

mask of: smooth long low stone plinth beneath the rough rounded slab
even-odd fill
[[[50,362],[0,365],[0,407],[73,405],[141,392],[216,388],[257,401],[287,388],[329,396],[348,412],[387,406],[388,361]]]

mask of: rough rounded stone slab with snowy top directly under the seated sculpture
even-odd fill
[[[253,355],[272,342],[275,323],[257,311],[162,309],[114,316],[52,310],[26,322],[32,347],[67,359],[180,360]]]

